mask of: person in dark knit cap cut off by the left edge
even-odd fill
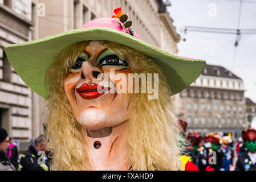
[[[7,131],[0,127],[0,171],[16,171],[6,151],[10,145]]]

